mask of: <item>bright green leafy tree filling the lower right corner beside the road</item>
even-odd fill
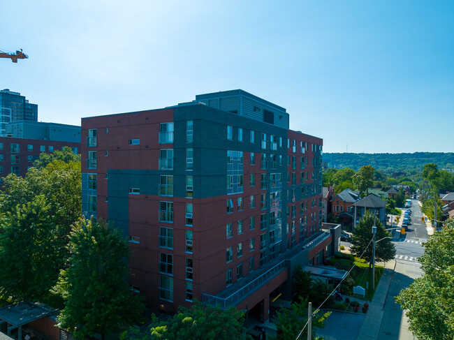
[[[423,276],[395,300],[407,310],[409,329],[418,339],[454,339],[454,221],[424,244]]]

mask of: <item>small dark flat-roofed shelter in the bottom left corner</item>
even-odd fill
[[[17,329],[17,339],[22,340],[22,327],[41,318],[54,316],[58,309],[34,302],[22,301],[0,308],[0,325],[6,323],[8,336]],[[50,334],[46,334],[50,335]]]

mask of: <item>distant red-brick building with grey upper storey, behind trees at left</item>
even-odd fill
[[[0,177],[11,172],[24,176],[42,152],[63,147],[71,147],[75,154],[80,151],[80,126],[15,121],[6,124],[5,131],[8,137],[0,137]]]

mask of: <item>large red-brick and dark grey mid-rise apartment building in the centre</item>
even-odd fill
[[[196,298],[265,320],[296,265],[332,252],[323,141],[288,119],[242,90],[82,119],[82,211],[129,237],[129,283],[150,309]]]

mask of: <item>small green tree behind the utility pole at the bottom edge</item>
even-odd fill
[[[295,340],[300,334],[301,330],[304,331],[300,335],[300,339],[307,339],[307,305],[308,301],[294,302],[291,304],[291,309],[281,309],[277,312],[275,325],[277,328],[277,340]],[[311,339],[320,339],[316,337],[316,329],[325,327],[323,323],[331,312],[324,313],[318,316],[318,311],[314,311],[312,317],[312,336]],[[273,338],[272,338],[273,339]]]

